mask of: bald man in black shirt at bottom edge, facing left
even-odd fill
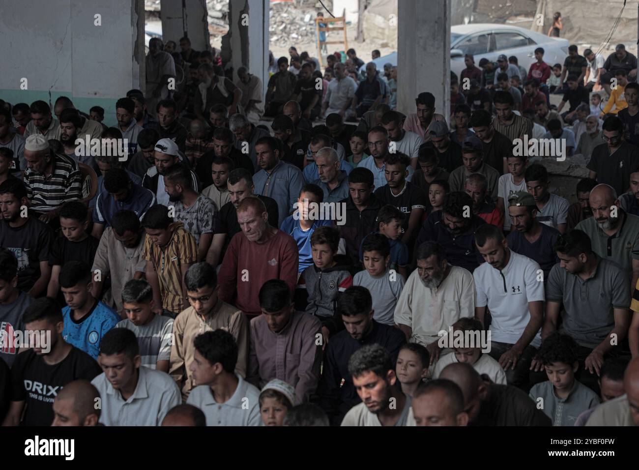
[[[551,421],[520,389],[497,385],[468,363],[443,368],[440,379],[455,382],[464,396],[464,411],[473,426],[550,426]]]

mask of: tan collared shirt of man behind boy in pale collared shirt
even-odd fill
[[[234,306],[218,299],[208,317],[197,315],[193,307],[183,310],[173,322],[173,345],[169,373],[182,391],[186,400],[196,384],[189,366],[195,354],[194,340],[205,331],[223,329],[233,334],[238,343],[238,362],[235,372],[246,377],[247,356],[249,355],[249,323],[244,313]]]

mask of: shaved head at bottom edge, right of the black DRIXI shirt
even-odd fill
[[[59,391],[53,402],[52,426],[97,426],[100,393],[89,380],[73,380]]]

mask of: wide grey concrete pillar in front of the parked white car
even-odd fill
[[[450,0],[397,2],[397,110],[415,113],[422,91],[450,115]]]

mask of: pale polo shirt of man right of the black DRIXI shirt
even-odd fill
[[[138,371],[137,386],[126,401],[104,372],[91,380],[102,398],[100,423],[105,426],[159,426],[171,408],[181,405],[180,389],[169,374],[148,367],[140,367]]]

